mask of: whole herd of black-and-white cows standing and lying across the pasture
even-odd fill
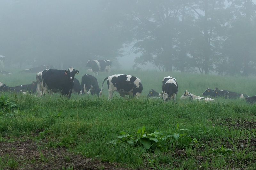
[[[94,73],[94,76],[95,74],[98,75],[98,72],[104,71],[109,74],[111,61],[89,60],[86,66],[91,67],[90,71]],[[101,96],[105,81],[107,81],[108,84],[108,99],[112,98],[114,91],[117,91],[121,97],[125,97],[125,95],[138,97],[143,90],[140,79],[131,75],[114,74],[108,76],[104,79],[100,89],[96,77],[90,74],[84,74],[80,84],[75,78],[75,74],[78,73],[79,71],[75,70],[73,67],[70,67],[68,70],[46,68],[44,71],[40,71],[36,74],[36,81],[33,81],[31,84],[9,87],[0,82],[0,91],[31,91],[33,93],[36,93],[37,91],[38,97],[44,95],[45,93],[51,94],[53,92],[60,92],[62,96],[68,96],[68,98],[70,98],[73,91],[79,95],[91,93],[92,95],[96,94]],[[178,83],[176,79],[168,76],[164,77],[162,81],[162,92],[157,93],[155,90],[151,89],[147,97],[162,97],[164,101],[175,100],[177,92]],[[208,88],[202,93],[202,96],[210,96],[212,98],[245,98],[245,100],[249,103],[254,103],[256,101],[256,96],[249,97],[245,94],[239,94],[228,90],[219,90],[218,88],[215,88],[214,90]],[[204,100],[205,102],[214,101],[212,98],[196,96],[189,93],[187,90],[180,97],[180,99]]]

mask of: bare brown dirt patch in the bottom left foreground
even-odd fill
[[[10,165],[7,169],[118,169],[117,163],[107,163],[92,158],[84,158],[81,154],[70,154],[64,148],[49,150],[38,150],[35,142],[27,140],[24,142],[0,143],[0,158],[2,164]],[[13,164],[13,161],[16,164]]]

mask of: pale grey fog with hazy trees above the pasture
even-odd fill
[[[0,5],[5,67],[256,73],[252,0],[11,0]],[[4,68],[1,68],[4,70]]]

